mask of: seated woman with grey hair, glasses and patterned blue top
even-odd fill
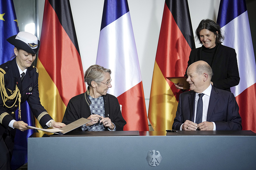
[[[92,120],[76,131],[116,131],[126,124],[117,98],[108,94],[111,70],[100,65],[90,66],[84,73],[88,88],[69,100],[62,122],[66,125],[82,117]]]

